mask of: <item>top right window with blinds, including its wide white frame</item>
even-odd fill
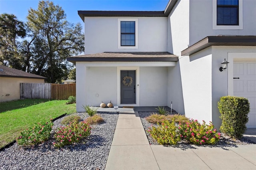
[[[243,0],[212,0],[213,30],[243,30]]]

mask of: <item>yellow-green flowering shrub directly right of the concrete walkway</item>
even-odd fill
[[[177,144],[180,141],[180,132],[174,121],[163,121],[158,127],[149,128],[148,132],[159,144]]]

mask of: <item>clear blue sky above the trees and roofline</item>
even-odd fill
[[[78,10],[126,10],[126,11],[163,11],[169,0],[51,0],[66,13],[68,22],[83,24]],[[0,14],[8,13],[26,22],[28,10],[37,9],[39,0],[0,0]]]

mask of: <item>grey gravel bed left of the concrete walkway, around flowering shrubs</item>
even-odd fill
[[[75,113],[82,119],[87,113]],[[15,143],[0,152],[0,170],[102,170],[106,166],[108,153],[114,136],[117,113],[98,113],[104,122],[91,125],[91,135],[78,144],[55,148],[53,134],[47,142],[33,147],[21,147]],[[54,121],[53,129],[60,127],[63,118]],[[53,131],[52,131],[53,132]]]

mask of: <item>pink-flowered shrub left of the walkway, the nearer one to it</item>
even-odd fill
[[[81,138],[85,138],[91,134],[91,127],[89,124],[78,121],[73,121],[65,127],[58,128],[57,132],[54,134],[56,142],[54,142],[55,147],[62,147],[74,142],[78,142]]]

